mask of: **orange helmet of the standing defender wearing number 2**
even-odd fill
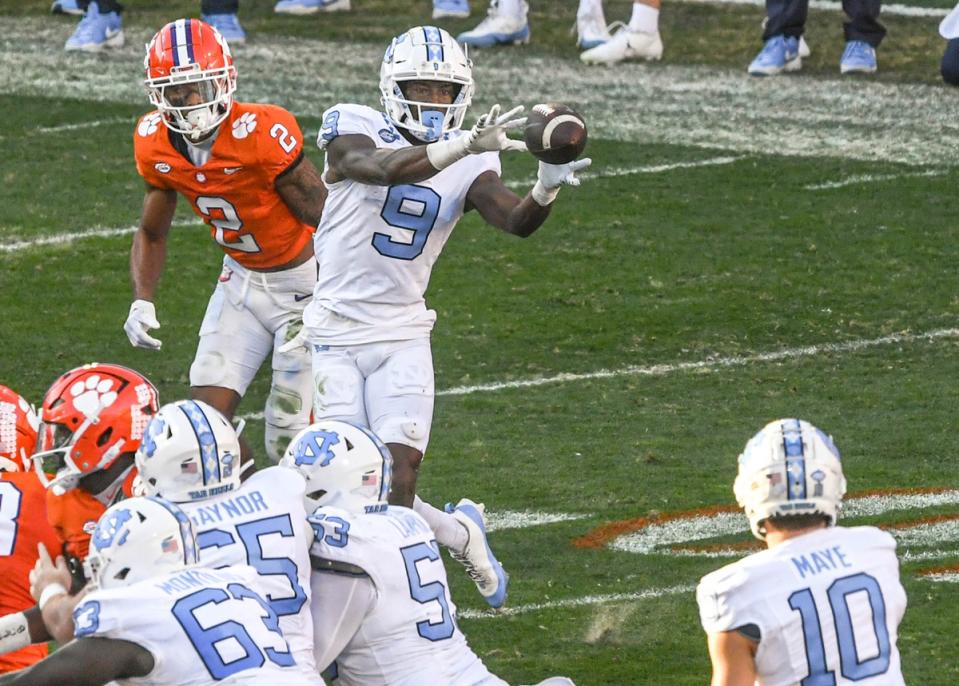
[[[226,40],[199,19],[160,29],[143,60],[150,102],[166,125],[193,140],[226,119],[236,91],[236,67]]]

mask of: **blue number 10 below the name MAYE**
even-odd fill
[[[847,596],[851,593],[860,592],[865,592],[869,598],[872,628],[879,649],[877,655],[863,661],[859,660],[847,600]],[[889,669],[892,644],[889,641],[889,630],[886,628],[886,602],[883,600],[879,582],[875,577],[860,572],[834,581],[827,595],[836,627],[839,665],[843,677],[850,681],[860,681],[885,673]],[[826,650],[823,646],[822,628],[812,591],[804,588],[793,593],[789,596],[789,607],[797,610],[802,617],[803,638],[806,643],[809,675],[800,683],[802,686],[834,686],[836,676],[835,672],[826,669]]]

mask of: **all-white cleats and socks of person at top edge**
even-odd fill
[[[576,44],[587,64],[616,64],[623,60],[658,60],[663,56],[659,36],[660,0],[636,0],[629,23],[606,25],[603,0],[579,0]],[[616,32],[610,34],[610,29]]]

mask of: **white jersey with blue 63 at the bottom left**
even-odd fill
[[[256,570],[188,567],[130,586],[95,590],[73,611],[77,638],[129,641],[153,670],[138,686],[316,686],[299,669],[276,615],[253,590]]]

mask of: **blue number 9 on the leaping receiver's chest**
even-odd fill
[[[419,257],[440,214],[440,196],[432,188],[407,184],[390,186],[380,216],[390,226],[413,232],[409,243],[394,241],[389,234],[374,233],[373,247],[385,257],[413,260]]]

